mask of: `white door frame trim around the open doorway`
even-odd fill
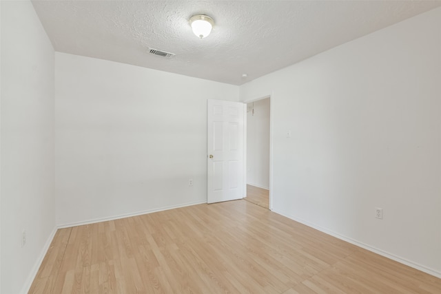
[[[251,98],[245,101],[241,101],[245,104],[253,103],[259,100],[269,98],[269,210],[273,210],[273,94],[267,94],[265,96],[258,96],[257,98]],[[245,196],[247,193],[247,119],[245,118],[244,129],[244,173],[245,173]]]

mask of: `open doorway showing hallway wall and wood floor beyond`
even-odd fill
[[[247,193],[245,200],[266,209],[270,206],[271,98],[247,103]]]

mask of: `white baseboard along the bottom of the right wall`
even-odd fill
[[[310,222],[307,222],[305,220],[301,220],[301,219],[296,218],[294,216],[290,216],[289,214],[284,213],[283,211],[278,211],[278,210],[273,210],[273,211],[275,213],[280,214],[281,216],[285,216],[287,218],[290,218],[291,220],[295,220],[296,222],[300,222],[301,224],[305,224],[308,227],[314,228],[314,229],[316,229],[318,231],[321,231],[323,233],[327,233],[328,235],[334,236],[334,237],[336,237],[336,238],[338,238],[340,240],[349,242],[349,243],[351,243],[353,245],[359,246],[359,247],[361,247],[363,249],[366,249],[368,251],[371,251],[373,253],[377,253],[378,255],[382,255],[385,258],[389,258],[390,260],[395,260],[396,262],[400,262],[401,264],[405,264],[407,266],[410,266],[413,269],[418,269],[418,271],[423,271],[424,273],[428,273],[429,275],[433,275],[435,277],[441,278],[441,272],[440,271],[436,271],[434,269],[430,269],[427,266],[423,266],[423,265],[418,264],[416,262],[411,262],[410,260],[407,260],[405,258],[400,258],[397,255],[393,255],[393,254],[391,254],[389,252],[382,251],[381,249],[377,249],[377,248],[375,248],[373,246],[370,246],[370,245],[367,245],[365,243],[358,242],[357,240],[353,240],[353,239],[348,238],[348,237],[346,237],[344,235],[340,235],[339,233],[336,233],[334,231],[330,231],[330,230],[322,228],[320,226],[316,226],[316,224],[311,224]]]

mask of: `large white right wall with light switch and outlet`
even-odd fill
[[[274,211],[438,277],[440,28],[438,8],[240,87],[272,94]]]

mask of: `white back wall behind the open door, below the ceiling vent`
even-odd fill
[[[55,56],[58,224],[207,201],[207,99],[238,86]]]

